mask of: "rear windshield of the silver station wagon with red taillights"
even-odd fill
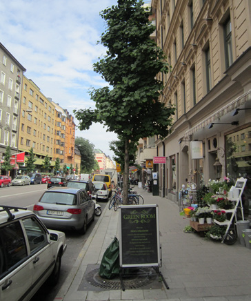
[[[76,195],[72,193],[46,192],[40,200],[41,203],[58,205],[76,205]]]

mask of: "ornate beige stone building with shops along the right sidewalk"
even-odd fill
[[[209,179],[247,177],[243,201],[251,216],[251,2],[151,5],[157,45],[172,66],[157,75],[165,84],[159,101],[177,108],[172,132],[155,142],[155,155],[165,157],[153,166],[159,195],[178,202],[182,184],[199,188]]]

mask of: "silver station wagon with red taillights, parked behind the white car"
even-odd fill
[[[33,211],[52,229],[66,229],[86,233],[94,220],[95,204],[85,189],[52,187],[40,197]]]

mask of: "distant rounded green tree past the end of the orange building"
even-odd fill
[[[75,146],[81,154],[81,171],[91,173],[94,169],[94,145],[88,139],[76,137]]]

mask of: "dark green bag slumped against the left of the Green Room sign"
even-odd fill
[[[103,253],[99,275],[106,279],[119,275],[119,240],[117,240],[117,237],[114,237],[105,253]]]

